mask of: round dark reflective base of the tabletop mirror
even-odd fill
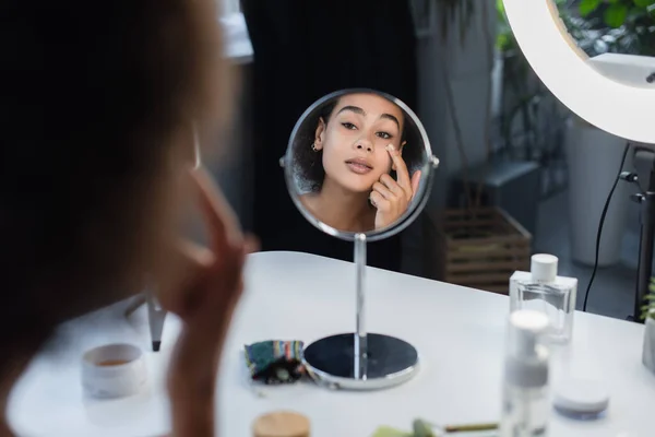
[[[307,346],[303,363],[320,386],[345,390],[379,390],[412,379],[419,369],[418,352],[400,339],[367,335],[366,375],[355,377],[355,333],[326,336]]]

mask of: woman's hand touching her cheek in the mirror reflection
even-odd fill
[[[396,182],[391,176],[384,174],[379,181],[373,184],[370,199],[373,206],[378,209],[376,229],[393,224],[407,211],[409,202],[418,191],[420,181],[420,170],[415,172],[412,179],[409,179],[409,172],[401,157],[401,152],[393,144],[389,144],[386,151],[396,167],[398,180]]]

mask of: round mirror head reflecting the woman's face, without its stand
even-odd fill
[[[305,111],[282,165],[296,206],[314,226],[374,241],[420,213],[438,163],[407,105],[372,90],[343,90]]]

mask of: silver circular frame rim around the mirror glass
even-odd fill
[[[424,142],[424,147],[425,147],[426,156],[427,156],[427,162],[425,164],[425,167],[421,167],[421,170],[427,172],[427,175],[421,175],[421,179],[425,182],[419,184],[419,186],[418,186],[419,187],[418,192],[414,197],[415,199],[418,199],[418,201],[416,203],[414,203],[414,206],[412,206],[412,203],[410,203],[410,208],[408,208],[407,211],[405,211],[405,213],[403,215],[401,215],[401,217],[394,224],[386,226],[385,228],[382,228],[380,231],[372,229],[372,231],[367,231],[365,233],[340,231],[332,226],[326,225],[325,223],[321,222],[319,218],[313,216],[305,208],[302,202],[300,202],[300,197],[298,196],[298,193],[294,192],[294,187],[296,186],[295,185],[296,182],[294,179],[294,174],[293,174],[294,140],[295,140],[296,135],[298,134],[298,131],[300,130],[303,121],[314,110],[317,110],[319,107],[324,105],[326,102],[337,98],[337,97],[341,97],[343,95],[355,94],[355,93],[377,94],[377,95],[384,97],[388,101],[394,103],[395,105],[397,105],[409,118],[412,118],[412,121],[414,122],[414,125],[416,125],[416,128],[418,129],[418,133]],[[386,94],[386,93],[383,93],[380,91],[376,91],[376,90],[371,90],[371,88],[346,88],[346,90],[340,90],[340,91],[330,93],[330,94],[319,98],[309,108],[307,108],[305,110],[305,113],[302,113],[302,115],[300,116],[298,121],[296,121],[296,126],[294,127],[294,130],[291,131],[291,134],[289,137],[286,153],[279,160],[279,164],[284,168],[284,176],[285,176],[285,181],[286,181],[286,186],[287,186],[287,191],[289,192],[289,196],[291,197],[291,200],[293,200],[294,204],[296,205],[296,208],[298,209],[298,211],[300,211],[300,213],[305,216],[305,218],[309,223],[311,223],[313,226],[315,226],[319,231],[322,231],[327,235],[331,235],[333,237],[336,237],[336,238],[340,238],[340,239],[343,239],[346,241],[355,241],[355,237],[357,235],[361,235],[361,234],[365,235],[367,241],[378,241],[381,239],[392,237],[392,236],[396,235],[397,233],[404,231],[407,226],[409,226],[416,220],[418,214],[420,214],[422,212],[422,210],[426,206],[426,203],[428,202],[428,199],[430,197],[430,191],[432,189],[432,181],[434,178],[433,174],[434,174],[434,170],[437,169],[437,167],[439,166],[439,160],[432,154],[432,147],[430,146],[430,140],[428,139],[428,134],[425,130],[425,127],[422,126],[422,122],[420,121],[418,116],[407,105],[405,105],[404,102],[402,102],[401,99],[398,99],[396,97],[393,97],[390,94]],[[414,202],[414,199],[413,199],[413,202]]]

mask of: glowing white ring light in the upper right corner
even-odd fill
[[[655,144],[655,58],[580,49],[552,0],[503,0],[519,47],[550,92],[582,119]],[[611,108],[608,108],[611,106]]]

